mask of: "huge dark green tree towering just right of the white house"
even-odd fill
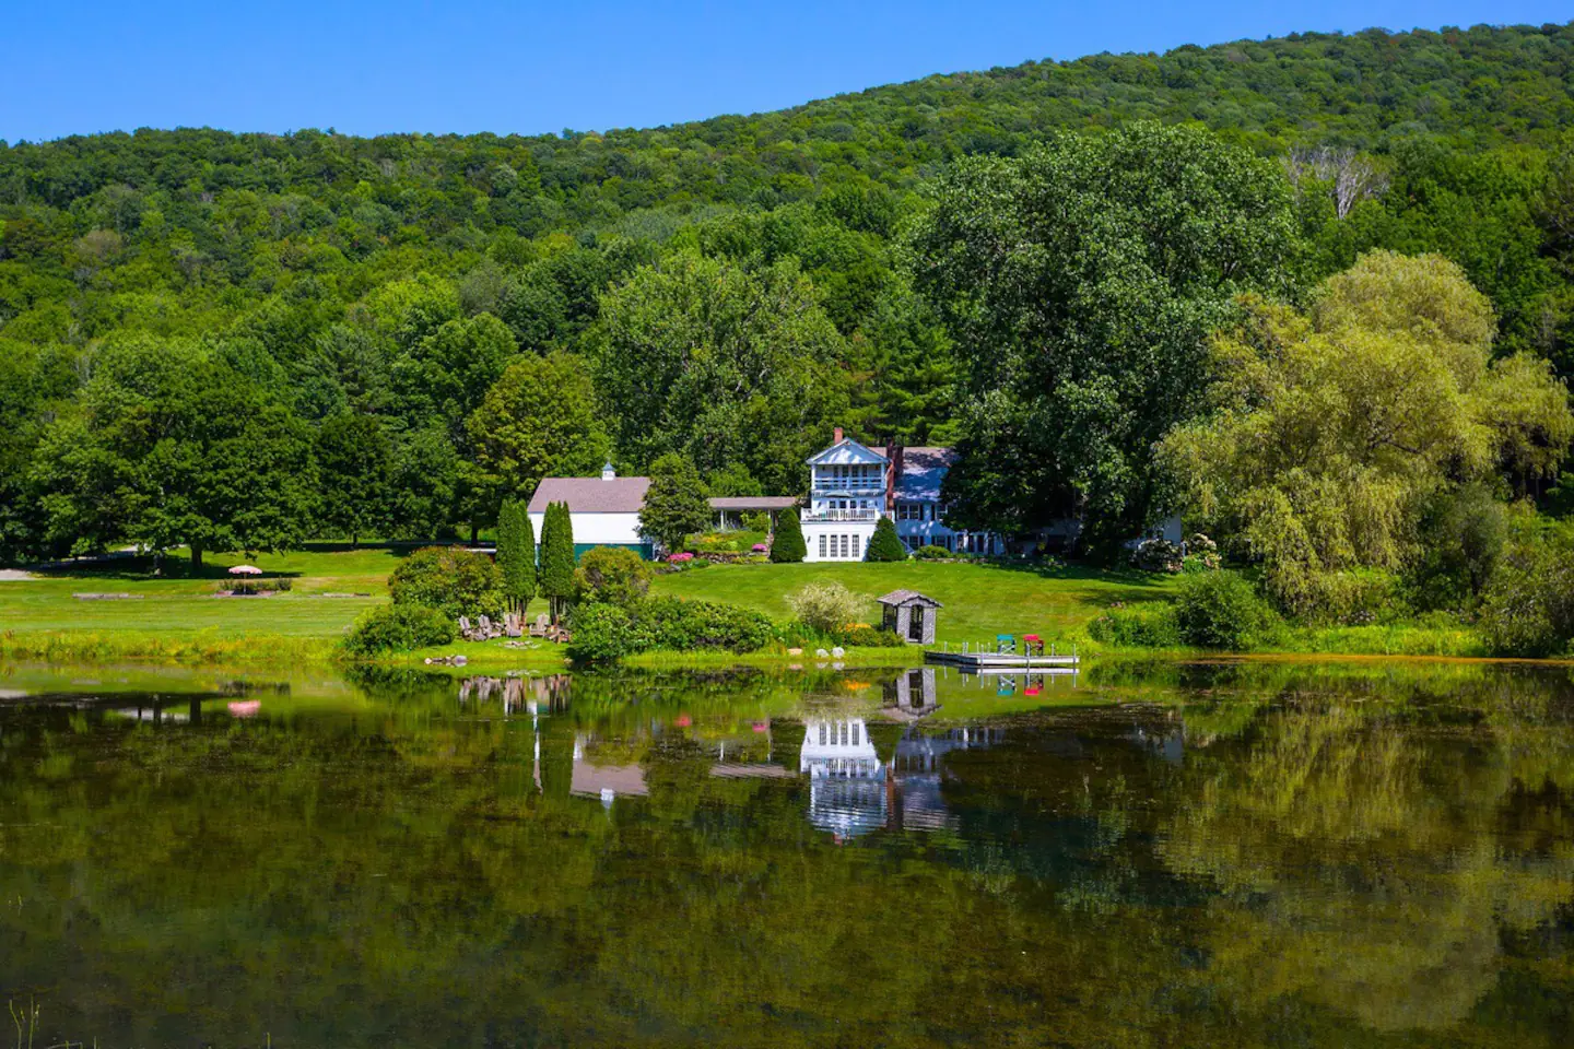
[[[1272,164],[1135,124],[959,164],[911,248],[960,357],[952,519],[1113,543],[1165,510],[1151,448],[1201,406],[1234,296],[1289,289],[1295,226]]]

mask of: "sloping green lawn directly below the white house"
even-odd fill
[[[1039,634],[1045,640],[1069,637],[1111,602],[1168,598],[1176,582],[1091,568],[1039,572],[995,565],[905,561],[711,566],[660,576],[652,590],[741,604],[774,620],[789,620],[792,609],[787,596],[807,582],[828,579],[869,598],[869,623],[880,623],[878,594],[918,590],[944,605],[935,623],[937,642],[990,645],[996,634]]]

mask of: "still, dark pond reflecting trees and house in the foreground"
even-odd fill
[[[38,1047],[1566,1046],[1574,684],[0,668],[0,997]]]

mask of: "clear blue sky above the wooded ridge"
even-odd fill
[[[645,127],[1028,58],[1574,17],[1566,0],[5,0],[0,11],[8,142],[175,126],[360,135]]]

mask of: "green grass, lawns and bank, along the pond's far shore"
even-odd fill
[[[387,576],[405,550],[315,546],[286,555],[261,555],[252,563],[269,577],[288,579],[291,590],[271,598],[219,598],[227,569],[241,555],[211,558],[200,576],[184,563],[175,574],[154,576],[131,560],[104,566],[69,566],[30,579],[0,580],[0,657],[52,662],[145,661],[168,664],[326,664],[338,639],[367,609],[387,599]],[[875,596],[918,590],[944,607],[937,642],[993,643],[996,634],[1039,634],[1050,643],[1078,645],[1094,654],[1141,653],[1091,643],[1088,624],[1111,604],[1163,602],[1179,580],[1091,568],[1026,569],[974,563],[897,565],[738,565],[658,576],[652,591],[719,601],[792,618],[789,596],[809,582],[836,580],[864,596],[866,621],[880,621]],[[79,593],[124,593],[131,599],[83,601]],[[532,604],[530,615],[545,610]],[[1273,645],[1278,654],[1358,656],[1487,656],[1481,637],[1462,626],[1289,628]],[[560,668],[563,650],[546,642],[526,648],[504,640],[458,642],[392,656],[382,662],[423,664],[427,657],[463,654],[467,665],[488,668]],[[1147,653],[1195,657],[1195,650]],[[902,667],[919,661],[913,648],[850,650],[847,667]],[[645,653],[628,661],[642,668],[715,668],[729,665],[815,665],[807,656],[771,648],[749,656],[732,653]]]

